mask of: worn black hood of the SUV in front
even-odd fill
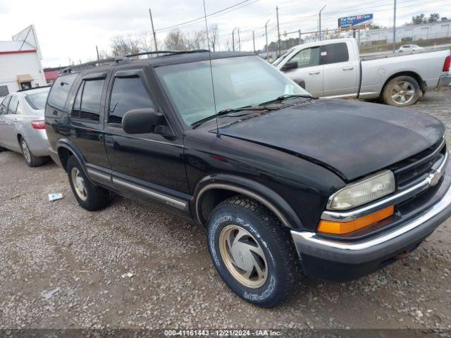
[[[373,173],[440,141],[436,118],[404,108],[320,99],[220,128],[220,133],[295,153],[345,180]]]

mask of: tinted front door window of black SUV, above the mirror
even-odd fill
[[[154,108],[140,77],[116,77],[111,89],[109,123],[122,123],[122,117],[131,109]]]

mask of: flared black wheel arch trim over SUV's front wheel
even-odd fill
[[[266,206],[285,227],[302,227],[302,221],[279,194],[259,182],[233,175],[210,175],[197,184],[192,200],[195,218],[200,224],[206,225],[211,211],[222,201],[237,194],[248,196]]]

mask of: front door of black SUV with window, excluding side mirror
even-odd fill
[[[185,213],[187,204],[183,206],[176,201],[189,198],[183,139],[158,133],[127,134],[122,129],[123,115],[132,109],[154,108],[163,113],[152,94],[150,76],[150,71],[144,67],[119,69],[113,73],[105,117],[105,145],[113,170],[113,184],[121,192],[176,206]]]

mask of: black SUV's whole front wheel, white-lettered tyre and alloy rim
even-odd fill
[[[219,275],[245,301],[270,308],[295,292],[301,269],[290,232],[257,201],[234,196],[216,206],[207,242]]]

